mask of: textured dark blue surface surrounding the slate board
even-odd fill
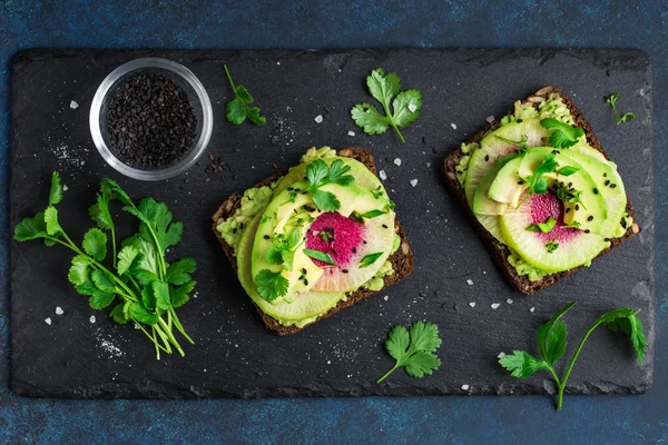
[[[99,48],[613,47],[652,57],[656,220],[667,220],[668,3],[3,1],[0,3],[0,442],[668,442],[668,244],[656,228],[657,356],[645,396],[73,402],[26,399],[9,373],[9,70],[17,50]],[[492,2],[490,2],[492,3]],[[595,2],[591,2],[595,3]]]

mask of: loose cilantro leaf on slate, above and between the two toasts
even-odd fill
[[[422,92],[414,89],[401,91],[401,79],[396,72],[385,75],[382,68],[371,72],[366,78],[366,87],[371,96],[383,106],[385,116],[371,103],[357,103],[351,109],[351,117],[357,127],[363,128],[367,135],[382,135],[390,126],[401,141],[405,142],[399,127],[407,127],[418,119],[422,109]]]

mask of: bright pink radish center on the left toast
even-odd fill
[[[364,237],[364,225],[335,211],[327,211],[315,218],[306,233],[306,248],[330,254],[336,265],[351,263]],[[313,259],[313,258],[312,258]],[[326,263],[313,259],[316,266]]]

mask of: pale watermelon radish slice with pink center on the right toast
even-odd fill
[[[544,222],[550,217],[557,219],[551,233],[527,230],[532,224]],[[528,264],[548,273],[569,270],[588,264],[610,246],[610,243],[599,235],[561,228],[564,225],[563,206],[559,198],[551,194],[532,195],[518,209],[500,216],[499,222],[508,246]],[[558,244],[558,247],[550,253],[548,246],[551,243]]]

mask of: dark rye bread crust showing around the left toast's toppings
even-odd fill
[[[374,175],[376,175],[376,168],[375,168],[375,164],[373,161],[373,155],[371,154],[370,150],[367,150],[365,148],[357,148],[357,147],[344,148],[344,149],[338,150],[338,156],[356,159],[360,162],[362,162],[366,168],[369,168]],[[276,174],[274,176],[271,176],[271,177],[257,182],[253,187],[258,188],[258,187],[268,186],[272,182],[276,181],[282,176],[284,176],[286,172],[282,172],[282,174]],[[236,211],[236,209],[239,208],[240,202],[242,202],[242,195],[234,194],[229,198],[227,198],[227,200],[225,200],[225,202],[223,202],[220,205],[220,207],[218,207],[218,210],[212,217],[212,219],[214,221],[214,224],[213,224],[214,234],[216,234],[216,238],[218,238],[218,241],[223,246],[223,250],[225,251],[225,255],[227,256],[227,259],[232,264],[232,267],[235,273],[237,273],[237,264],[236,264],[236,256],[234,255],[234,249],[232,248],[230,245],[228,245],[225,241],[225,239],[223,239],[223,237],[220,236],[220,234],[218,233],[216,227],[222,221],[232,217],[234,215],[234,212]],[[404,279],[409,275],[411,275],[411,273],[413,271],[413,253],[411,251],[411,247],[409,246],[409,241],[406,239],[406,234],[403,231],[401,224],[399,222],[399,218],[395,219],[394,230],[401,237],[401,245],[400,245],[400,248],[394,254],[392,254],[390,256],[390,258],[387,258],[387,260],[390,263],[392,263],[392,267],[394,268],[394,274],[392,274],[389,277],[383,278],[383,280],[384,280],[383,289],[389,286],[392,286],[395,283],[401,281],[402,279]],[[343,301],[343,300],[338,301],[338,304],[336,306],[334,306],[327,313],[317,317],[317,319],[313,323],[317,323],[323,318],[327,318],[331,315],[336,314],[341,309],[352,306],[355,303],[360,301],[361,299],[370,297],[376,293],[377,291],[374,291],[374,290],[360,288],[356,291],[354,291],[353,294],[348,295],[348,298],[345,301]],[[254,303],[254,306],[257,309],[257,312],[259,313],[259,316],[262,317],[262,320],[264,322],[266,327],[275,330],[278,335],[291,335],[291,334],[295,334],[303,329],[303,328],[296,327],[296,326],[284,326],[281,323],[278,323],[278,320],[273,318],[272,316],[265,314],[257,305],[255,305],[255,303]],[[310,326],[313,323],[310,323],[306,326]]]

